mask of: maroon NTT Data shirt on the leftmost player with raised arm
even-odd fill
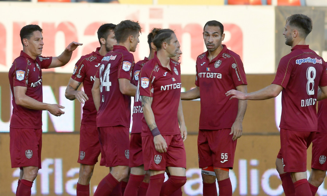
[[[28,109],[19,106],[15,101],[14,87],[27,87],[26,95],[43,102],[42,96],[42,70],[47,69],[52,62],[52,57],[38,56],[32,59],[21,51],[9,69],[9,83],[12,93],[12,116],[10,127],[12,128],[42,128],[42,110]]]

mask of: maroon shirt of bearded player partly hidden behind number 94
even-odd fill
[[[96,125],[96,109],[91,90],[95,80],[95,74],[103,58],[103,56],[100,55],[99,50],[100,48],[96,48],[95,52],[82,56],[75,64],[72,75],[72,79],[83,83],[84,92],[89,98],[83,106],[81,124]]]

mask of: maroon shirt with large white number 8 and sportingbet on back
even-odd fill
[[[281,85],[280,128],[317,131],[318,86],[327,86],[325,61],[309,45],[296,45],[278,65],[272,84]]]

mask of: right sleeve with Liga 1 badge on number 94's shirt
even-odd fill
[[[128,54],[121,58],[121,62],[118,65],[118,79],[125,78],[130,80],[131,71],[134,66],[134,57],[132,54]]]

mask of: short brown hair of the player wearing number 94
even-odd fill
[[[115,37],[117,43],[121,43],[127,40],[127,38],[136,33],[141,33],[141,26],[138,22],[131,20],[125,20],[117,24],[115,27]]]

